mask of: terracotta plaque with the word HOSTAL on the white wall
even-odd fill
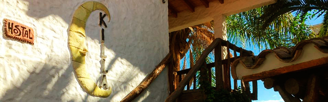
[[[3,26],[6,37],[34,44],[34,30],[31,27],[9,19],[3,19]]]

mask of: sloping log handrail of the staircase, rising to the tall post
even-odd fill
[[[205,59],[207,58],[208,54],[210,54],[215,46],[219,43],[220,39],[215,39],[202,53],[202,55],[199,57],[199,59],[196,61],[196,64],[193,68],[189,71],[187,76],[181,80],[181,82],[178,84],[175,91],[169,95],[165,102],[174,102],[175,99],[181,94],[182,90],[184,89],[184,86],[191,80],[191,78],[196,74],[196,72],[199,70]]]

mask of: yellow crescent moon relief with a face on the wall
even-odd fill
[[[85,2],[74,12],[68,42],[72,52],[73,68],[83,90],[93,96],[108,97],[112,93],[112,88],[109,87],[106,90],[99,88],[85,68],[85,55],[88,51],[85,45],[85,26],[91,12],[98,9],[103,10],[108,15],[108,22],[110,21],[110,14],[105,5],[95,1]]]

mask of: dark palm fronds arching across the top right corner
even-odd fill
[[[320,28],[319,36],[327,36],[328,32],[328,0],[278,0],[277,3],[269,5],[264,9],[264,14],[259,18],[255,27],[260,27],[261,29],[255,31],[263,31],[268,27],[272,21],[277,19],[279,16],[288,12],[297,12],[300,14],[300,18],[304,19],[307,13],[311,10],[316,10],[315,14],[319,16],[324,16],[323,25]]]

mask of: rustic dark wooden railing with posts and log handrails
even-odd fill
[[[221,47],[222,46],[227,47],[227,55],[230,55],[230,49],[232,49],[234,51],[235,57],[233,57],[233,58],[228,57],[227,59],[222,60],[221,59]],[[213,63],[206,64],[205,59],[213,50],[214,50],[214,52],[218,52],[218,53],[214,54],[215,61]],[[240,56],[237,57],[236,52],[238,52]],[[200,73],[202,73],[202,71],[204,71],[203,70],[204,68],[211,69],[211,68],[215,67],[215,85],[216,85],[215,89],[216,90],[226,89],[226,90],[231,91],[230,64],[239,57],[252,56],[252,55],[254,55],[254,53],[252,51],[244,50],[244,49],[237,47],[236,45],[230,43],[229,41],[225,41],[220,38],[216,38],[203,51],[203,54],[196,61],[195,65],[191,66],[192,68],[175,72],[176,76],[173,76],[173,77],[179,77],[179,83],[177,85],[173,85],[173,87],[172,87],[172,84],[174,84],[174,83],[170,83],[170,85],[171,85],[170,88],[173,88],[170,90],[173,90],[173,93],[171,93],[170,96],[167,97],[165,102],[174,102],[176,100],[176,98],[178,98],[178,96],[182,93],[185,86],[187,86],[187,91],[190,90],[190,81],[192,79],[194,80],[193,90],[195,90],[196,89],[196,81],[195,81],[196,75],[195,74],[197,71],[200,71]],[[223,65],[223,69],[222,69],[222,65]],[[223,71],[223,75],[222,75],[222,71]],[[185,75],[185,76],[182,78],[183,75]],[[212,78],[211,71],[209,70],[208,77],[205,80],[212,82],[211,78]],[[170,82],[172,82],[172,81],[170,81]],[[243,89],[250,93],[248,82],[247,83],[242,82],[242,84],[243,84],[242,87],[244,87]],[[176,87],[174,87],[174,86],[176,86]],[[234,89],[237,89],[237,86],[238,86],[237,80],[234,79]],[[254,90],[253,90],[253,93],[255,94]],[[251,95],[249,95],[249,96],[251,96]]]

